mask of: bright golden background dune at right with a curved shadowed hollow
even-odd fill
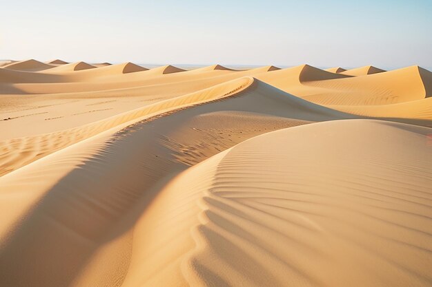
[[[418,66],[366,76],[326,72],[308,65],[257,75],[260,80],[320,105],[388,105],[424,99],[431,72]],[[332,76],[333,75],[333,76]],[[346,78],[335,78],[342,76]]]

